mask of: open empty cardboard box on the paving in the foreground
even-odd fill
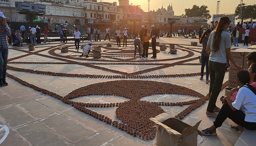
[[[172,118],[166,113],[150,118],[157,126],[157,146],[197,146],[197,130],[200,122],[195,126],[182,122],[179,119]]]

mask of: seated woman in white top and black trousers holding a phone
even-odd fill
[[[222,108],[213,125],[202,130],[203,135],[216,136],[216,128],[221,127],[227,119],[238,124],[237,130],[244,131],[244,127],[256,130],[256,89],[250,85],[250,74],[247,70],[240,70],[237,73],[236,82],[241,87],[237,93],[236,100],[232,102],[227,96],[222,101]],[[236,130],[230,126],[232,130]]]

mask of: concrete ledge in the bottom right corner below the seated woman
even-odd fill
[[[254,146],[256,143],[256,130],[245,129],[235,146]]]

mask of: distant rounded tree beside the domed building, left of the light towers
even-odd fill
[[[198,5],[193,5],[192,8],[185,9],[185,15],[187,17],[198,17],[198,16],[206,16],[208,19],[211,19],[210,11],[207,9],[206,5],[202,5],[199,7]]]

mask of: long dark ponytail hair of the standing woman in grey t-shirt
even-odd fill
[[[224,30],[225,24],[230,23],[230,20],[227,16],[222,17],[221,20],[219,20],[219,23],[215,30],[215,35],[212,41],[212,48],[214,52],[217,52],[219,50],[219,45],[221,43],[221,33]]]

